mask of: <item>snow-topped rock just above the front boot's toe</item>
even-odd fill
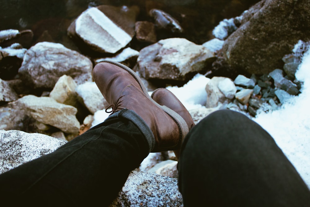
[[[138,51],[131,49],[130,47],[126,47],[124,50],[122,50],[122,52],[120,52],[116,56],[99,58],[95,60],[95,63],[97,64],[100,61],[115,61],[122,63],[129,68],[132,68],[133,66],[135,66],[138,56],[139,56]]]

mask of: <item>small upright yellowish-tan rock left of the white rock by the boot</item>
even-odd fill
[[[76,106],[78,100],[75,88],[77,86],[70,76],[63,75],[58,79],[49,96],[58,103]]]

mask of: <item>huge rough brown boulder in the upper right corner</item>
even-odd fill
[[[310,2],[263,0],[225,41],[223,55],[233,68],[265,74],[282,68],[282,57],[310,37]]]

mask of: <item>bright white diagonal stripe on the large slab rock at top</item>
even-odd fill
[[[113,21],[104,15],[99,9],[93,7],[87,11],[96,24],[107,31],[121,45],[126,45],[131,41],[131,36],[118,27]]]

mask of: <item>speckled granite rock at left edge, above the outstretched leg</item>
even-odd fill
[[[44,134],[0,130],[0,173],[51,153],[65,143]]]

